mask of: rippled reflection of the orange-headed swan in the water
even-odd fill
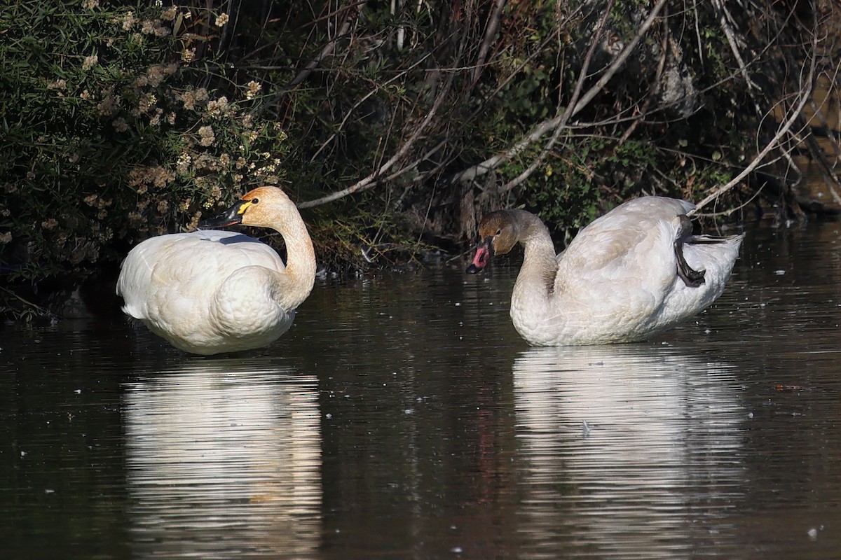
[[[125,385],[135,556],[316,557],[317,379],[223,360],[188,368]]]

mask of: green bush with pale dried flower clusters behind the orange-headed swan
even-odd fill
[[[148,4],[47,0],[0,12],[6,280],[117,260],[280,179],[286,133],[250,113],[261,84],[237,84],[214,63],[227,16]]]

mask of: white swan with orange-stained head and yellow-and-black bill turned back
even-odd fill
[[[247,192],[198,225],[234,224],[278,231],[287,263],[241,233],[200,229],[149,238],[121,266],[123,311],[189,353],[238,352],[277,340],[315,283],[312,240],[294,203],[273,186]]]

